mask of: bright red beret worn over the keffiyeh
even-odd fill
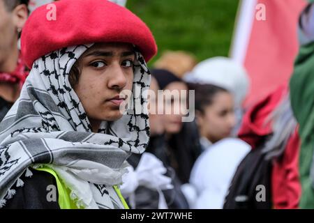
[[[52,10],[55,6],[55,17]],[[21,37],[24,62],[63,47],[87,43],[132,43],[146,61],[157,52],[151,31],[130,10],[107,0],[61,0],[37,8],[27,20]]]

